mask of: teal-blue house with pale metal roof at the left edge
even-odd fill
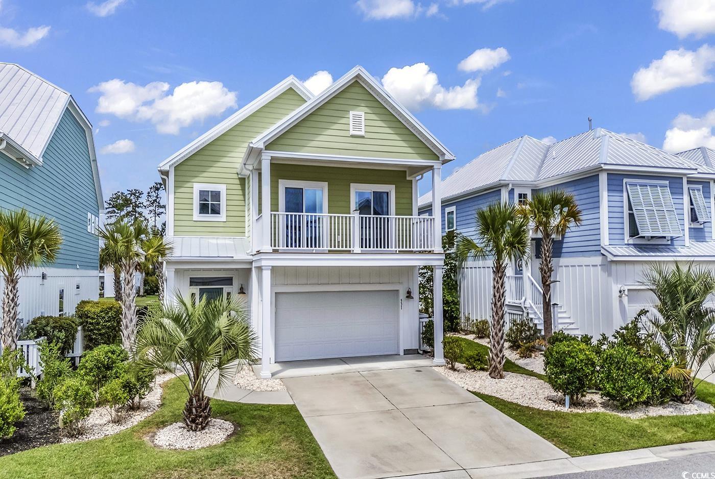
[[[53,265],[20,280],[25,324],[97,299],[103,204],[92,125],[77,103],[22,66],[0,63],[0,208],[54,219],[64,238]]]

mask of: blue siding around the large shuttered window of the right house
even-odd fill
[[[685,231],[683,213],[683,178],[665,177],[646,174],[621,174],[608,173],[608,243],[610,245],[624,245],[624,215],[626,205],[623,204],[623,180],[624,179],[650,179],[653,181],[667,181],[673,197],[673,204],[678,215],[680,226]],[[673,246],[685,246],[685,237],[681,236],[671,240]],[[643,246],[643,244],[639,245]],[[654,245],[658,246],[658,245]],[[663,246],[662,244],[660,246]]]

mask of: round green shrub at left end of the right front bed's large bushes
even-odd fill
[[[578,403],[596,375],[596,353],[581,341],[566,340],[546,348],[546,380],[553,390]]]

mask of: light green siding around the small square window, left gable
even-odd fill
[[[305,103],[287,89],[242,122],[174,167],[174,234],[245,236],[246,180],[238,167],[248,143]],[[226,221],[194,221],[194,183],[226,185]]]

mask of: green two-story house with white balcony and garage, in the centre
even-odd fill
[[[242,295],[276,362],[402,355],[418,348],[418,267],[435,267],[441,350],[440,208],[417,182],[454,159],[360,66],[311,94],[294,76],[159,165],[168,192],[167,290]]]

